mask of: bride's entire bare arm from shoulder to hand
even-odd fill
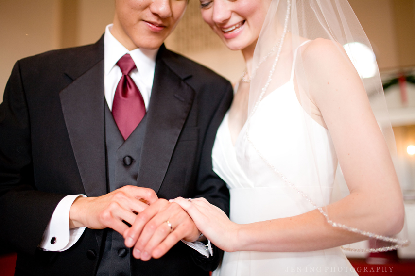
[[[302,57],[312,102],[327,125],[350,195],[327,206],[330,219],[390,236],[403,227],[404,207],[388,147],[372,113],[362,81],[346,52],[317,39]],[[331,248],[367,239],[332,227],[318,211],[237,225],[202,199],[176,199],[196,226],[225,251],[296,252]]]

